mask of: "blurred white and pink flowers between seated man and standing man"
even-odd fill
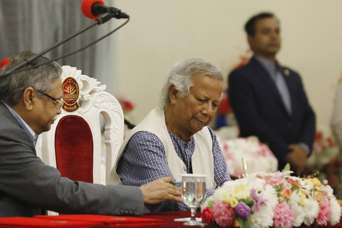
[[[235,178],[244,173],[240,163],[241,158],[246,159],[248,170],[273,172],[278,168],[278,160],[265,144],[255,136],[223,140],[218,137],[219,145],[226,159],[228,173]]]

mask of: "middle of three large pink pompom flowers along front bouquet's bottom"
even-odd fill
[[[275,228],[292,228],[294,211],[285,202],[278,203],[274,209],[273,225]]]

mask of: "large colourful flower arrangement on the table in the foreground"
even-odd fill
[[[202,222],[241,228],[338,224],[341,205],[331,187],[290,173],[257,172],[225,182],[202,205]]]

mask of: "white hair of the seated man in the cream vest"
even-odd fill
[[[182,59],[175,63],[167,74],[166,82],[160,92],[161,107],[165,109],[166,105],[170,103],[170,85],[174,85],[175,89],[179,92],[180,97],[188,95],[190,93],[190,87],[194,85],[192,77],[195,74],[209,76],[223,82],[221,70],[216,68],[215,65],[208,60],[201,58]]]

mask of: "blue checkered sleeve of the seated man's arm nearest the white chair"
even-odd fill
[[[144,131],[134,134],[118,163],[117,174],[122,184],[141,186],[160,177],[173,178],[165,155],[164,145],[155,134]],[[146,207],[151,212],[189,210],[184,203],[172,201]]]

